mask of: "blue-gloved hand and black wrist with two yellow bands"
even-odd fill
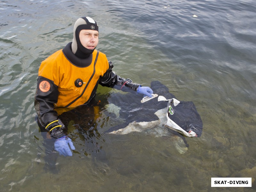
[[[61,122],[60,119],[52,121],[49,123],[45,129],[50,132],[51,137],[57,139],[54,142],[54,149],[63,156],[72,156],[72,150],[75,150],[73,142],[68,136],[64,133],[66,130],[65,125]]]

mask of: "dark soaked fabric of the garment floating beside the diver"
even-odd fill
[[[167,99],[176,99],[176,97],[169,92],[168,88],[159,81],[151,82],[150,87],[158,96],[161,95]],[[115,88],[120,89],[120,87]],[[108,103],[113,103],[121,108],[120,118],[125,119],[126,122],[110,128],[107,132],[122,129],[133,121],[150,122],[158,120],[159,118],[154,114],[156,111],[163,108],[166,108],[166,113],[168,111],[168,101],[158,101],[157,97],[144,103],[140,101],[141,95],[134,92],[127,94],[113,93],[108,98]],[[169,115],[169,118],[186,132],[193,131],[196,133],[197,137],[200,137],[203,130],[203,122],[194,103],[192,101],[180,101],[177,106],[172,105],[172,108],[174,113],[173,115]]]

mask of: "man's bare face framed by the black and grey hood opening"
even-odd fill
[[[99,42],[99,32],[95,30],[82,29],[79,33],[81,44],[86,49],[95,49]]]

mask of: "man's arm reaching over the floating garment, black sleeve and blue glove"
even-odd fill
[[[112,62],[108,62],[108,70],[102,77],[100,77],[99,84],[102,86],[108,86],[108,87],[115,87],[118,89],[118,87],[121,87],[120,89],[122,91],[127,91],[127,88],[132,89],[133,91],[143,94],[144,96],[152,97],[152,89],[149,87],[142,87],[140,84],[132,83],[130,79],[124,79],[118,75],[114,71],[112,71],[112,68],[114,67]],[[119,86],[115,86],[119,85]],[[121,86],[120,86],[121,85]],[[129,90],[129,89],[128,89]]]

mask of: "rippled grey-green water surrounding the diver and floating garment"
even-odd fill
[[[255,1],[10,0],[0,12],[0,191],[255,191]],[[73,137],[73,156],[57,156],[57,173],[44,169],[38,68],[85,15],[98,22],[97,49],[117,74],[144,86],[158,80],[195,103],[203,134],[187,138],[186,153],[172,136],[104,134],[115,122],[102,107],[100,136]],[[97,97],[112,92],[99,87]],[[252,177],[252,188],[211,188],[212,177]]]

